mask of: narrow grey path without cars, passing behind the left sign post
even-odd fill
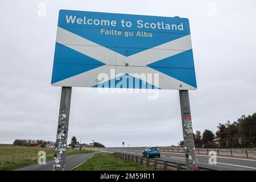
[[[75,168],[86,159],[90,158],[93,154],[97,152],[87,153],[87,154],[77,154],[77,155],[69,155],[66,158],[66,167],[65,171],[70,171],[71,169]],[[45,165],[34,164],[31,166],[15,169],[15,171],[52,171],[53,167],[53,160],[49,160],[46,162]]]

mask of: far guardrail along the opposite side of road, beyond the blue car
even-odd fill
[[[124,149],[124,150],[143,150],[146,147],[112,147],[114,149]],[[184,153],[184,148],[176,147],[158,147],[162,152],[176,152]],[[228,155],[228,156],[243,156],[246,158],[256,157],[256,151],[251,150],[222,150],[217,148],[196,148],[196,154],[207,154],[209,155],[210,151],[216,152],[217,155]]]

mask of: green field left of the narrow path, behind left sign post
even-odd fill
[[[46,152],[46,160],[52,160],[55,148],[46,147],[20,147],[13,145],[0,144],[0,171],[11,170],[30,164],[38,163],[38,152]],[[76,155],[93,152],[91,150],[68,150],[67,155]]]

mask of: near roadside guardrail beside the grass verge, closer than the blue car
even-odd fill
[[[154,167],[154,169],[162,169],[164,171],[185,171],[185,170],[187,170],[187,167],[185,166],[185,164],[170,162],[167,160],[143,158],[141,156],[123,154],[120,152],[114,152],[113,155],[119,159],[130,160],[131,162],[139,163],[139,164],[145,165],[147,167]],[[199,167],[199,170],[213,171],[213,169],[202,168],[202,167]]]

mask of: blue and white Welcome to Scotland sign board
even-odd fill
[[[195,90],[188,19],[60,10],[52,85]]]

